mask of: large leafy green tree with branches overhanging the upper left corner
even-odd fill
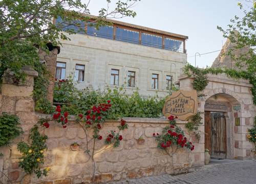
[[[131,10],[140,0],[117,1],[115,8],[110,9],[110,0],[106,0],[106,7],[99,10],[93,21],[96,28],[108,24],[105,18],[121,18],[136,16]],[[35,67],[38,62],[37,47],[45,48],[46,43],[60,44],[59,38],[69,39],[61,32],[63,27],[75,25],[80,27],[89,25],[90,0],[83,4],[80,0],[3,0],[0,2],[0,77],[10,68],[17,80],[24,77],[20,68],[24,65]],[[86,13],[86,14],[81,14]],[[63,22],[53,23],[53,18],[61,17]],[[81,24],[82,22],[82,24]],[[73,29],[67,33],[75,34]]]

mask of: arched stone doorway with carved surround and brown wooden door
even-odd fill
[[[212,158],[234,158],[234,107],[240,103],[231,95],[219,93],[205,101],[205,148]]]

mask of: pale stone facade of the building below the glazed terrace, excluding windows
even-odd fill
[[[159,97],[165,97],[168,95],[166,75],[170,75],[171,65],[173,81],[176,81],[187,61],[184,53],[84,34],[69,37],[71,41],[60,40],[62,48],[57,61],[67,64],[66,78],[74,73],[76,64],[85,65],[84,82],[77,84],[79,89],[110,86],[111,68],[114,68],[119,70],[119,86],[124,85],[127,94],[138,87],[142,96],[154,96],[157,92]],[[127,87],[128,71],[136,72],[135,87]],[[152,74],[159,75],[158,90],[151,87]]]

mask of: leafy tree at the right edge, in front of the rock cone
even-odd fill
[[[238,6],[243,11],[244,17],[234,16],[226,30],[219,26],[217,28],[223,32],[224,37],[234,43],[234,47],[227,54],[237,61],[236,65],[241,68],[241,72],[246,74],[244,78],[253,85],[251,91],[253,102],[256,104],[256,1],[246,1],[249,10],[246,10],[241,3],[238,3]],[[233,54],[234,50],[242,48],[248,48],[247,52],[238,56]]]

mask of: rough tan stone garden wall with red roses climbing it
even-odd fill
[[[15,84],[11,80],[6,80],[11,75],[8,73],[8,75],[5,74],[2,84],[0,111],[16,114],[20,118],[24,133],[17,137],[10,147],[0,148],[0,152],[4,153],[0,158],[0,171],[2,171],[0,181],[3,183],[90,183],[94,169],[92,158],[84,152],[87,146],[86,134],[72,116],[67,128],[62,128],[54,121],[50,122],[48,129],[39,128],[40,133],[46,134],[49,138],[45,164],[42,165],[42,168],[50,167],[51,169],[47,177],[37,179],[35,175],[25,175],[19,168],[18,162],[21,155],[17,150],[17,143],[29,142],[29,130],[39,118],[47,116],[34,112],[33,77],[37,73],[29,68],[25,72],[28,74],[25,84]],[[179,148],[173,155],[173,159],[164,150],[157,148],[153,133],[161,133],[161,129],[168,125],[165,119],[126,118],[125,120],[129,128],[120,132],[123,140],[118,148],[106,148],[104,139],[110,130],[118,131],[117,126],[120,122],[105,122],[100,130],[103,139],[96,140],[94,155],[96,182],[186,172],[193,164],[203,164],[202,141],[194,143],[193,153],[185,148]],[[186,122],[178,121],[177,123],[184,129]],[[89,131],[88,147],[91,151],[92,135],[92,131]],[[137,142],[140,136],[145,139],[143,144]],[[186,136],[189,137],[187,133]],[[70,148],[74,142],[80,145],[77,151],[72,151]]]

